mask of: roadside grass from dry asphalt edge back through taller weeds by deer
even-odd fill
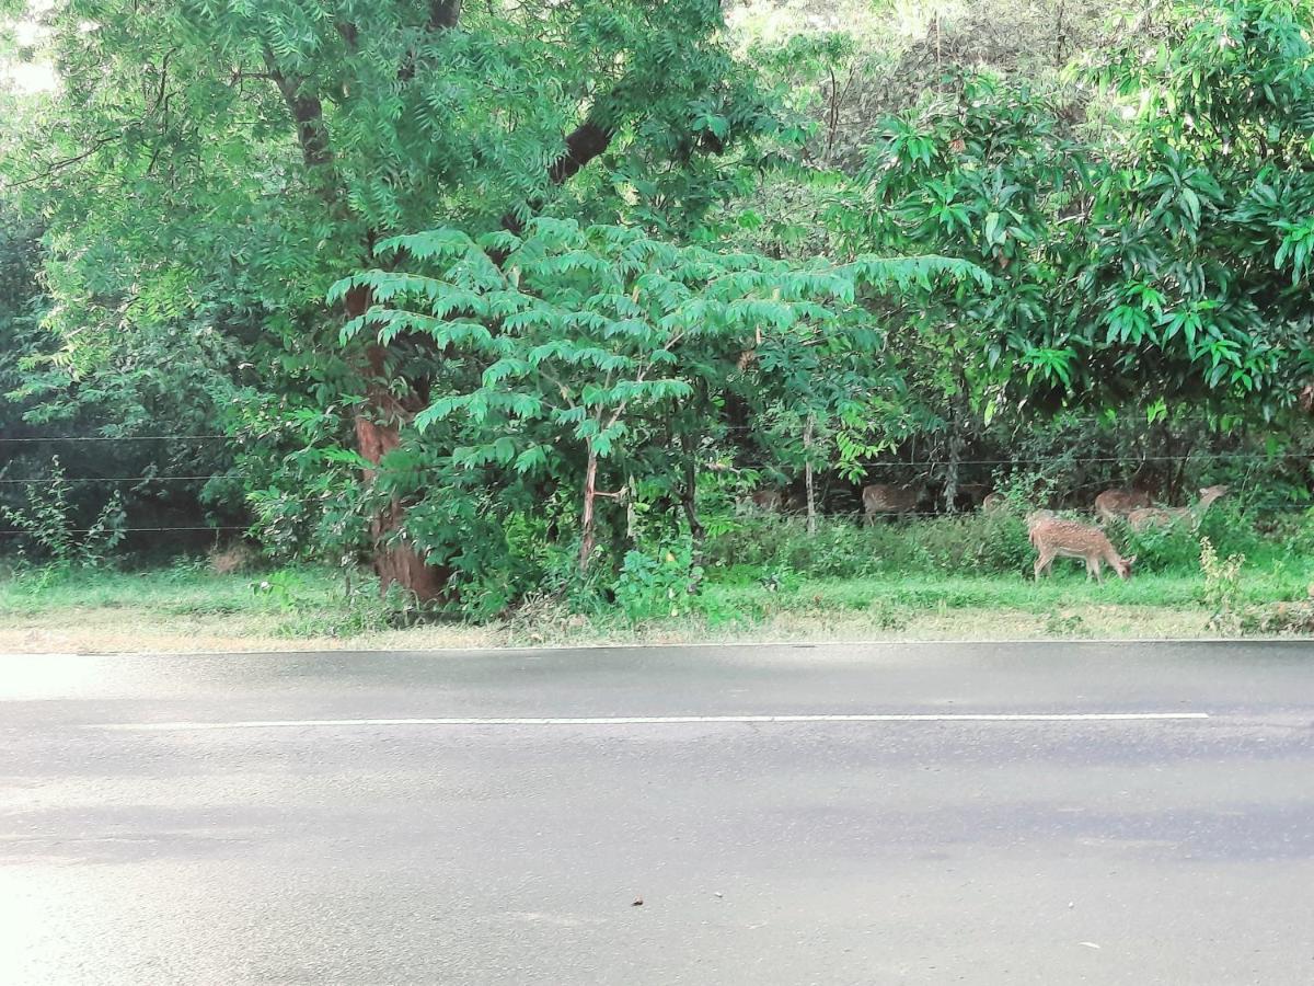
[[[343,573],[325,568],[217,575],[194,559],[142,571],[0,571],[0,651],[1152,638],[1314,627],[1314,522],[1290,518],[1261,530],[1219,511],[1202,534],[1222,557],[1246,556],[1226,621],[1212,619],[1217,614],[1205,603],[1200,542],[1190,531],[1138,536],[1110,528],[1120,550],[1139,556],[1129,581],[1109,575],[1091,582],[1084,565],[1060,559],[1054,576],[1034,582],[1026,530],[1013,517],[871,527],[829,519],[815,538],[798,522],[767,518],[707,546],[696,596],[685,594],[689,573],[678,565],[644,569],[653,581],[637,589],[646,593],[644,605],[628,611],[661,614],[678,598],[678,617],[632,621],[591,597],[579,611],[537,599],[478,626],[402,630],[368,577],[353,576],[348,594]],[[660,556],[674,557],[665,548]]]

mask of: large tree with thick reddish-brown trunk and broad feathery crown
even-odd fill
[[[438,216],[519,227],[602,155],[590,208],[696,213],[717,176],[658,168],[770,126],[714,0],[72,0],[49,28],[62,87],[4,170],[53,230],[55,327],[113,342],[222,301],[259,326],[265,379],[355,408],[371,464],[423,406],[432,356],[331,347],[371,297],[322,298],[373,243]],[[376,519],[376,567],[436,597],[442,573],[388,536],[403,514]]]

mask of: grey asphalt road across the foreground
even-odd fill
[[[0,657],[5,983],[1310,983],[1311,857],[1307,644]]]

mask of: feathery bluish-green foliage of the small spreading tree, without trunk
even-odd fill
[[[494,248],[509,250],[501,267]],[[514,242],[435,230],[380,250],[414,270],[340,281],[335,297],[365,289],[377,302],[344,339],[371,330],[394,347],[442,344],[451,372],[432,381],[414,426],[432,433],[442,423],[461,469],[518,475],[560,473],[573,444],[637,468],[662,422],[682,402],[724,392],[752,351],[761,351],[773,392],[823,413],[838,401],[857,422],[853,394],[871,387],[863,360],[878,343],[862,326],[859,294],[991,284],[975,264],[941,256],[790,264],[552,218],[530,221]],[[463,279],[489,264],[497,277]],[[862,431],[848,429],[850,446]]]

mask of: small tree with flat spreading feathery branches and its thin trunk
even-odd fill
[[[365,289],[376,301],[347,323],[348,340],[423,339],[445,354],[414,418],[417,433],[438,440],[403,442],[380,468],[424,486],[407,535],[427,563],[464,578],[486,564],[472,565],[472,531],[506,530],[512,510],[541,513],[561,488],[577,492],[578,567],[587,569],[599,504],[652,480],[679,482],[661,475],[674,465],[666,452],[699,447],[712,423],[683,418],[681,405],[742,385],[735,368],[745,351],[777,340],[809,354],[804,372],[820,385],[850,354],[879,363],[865,293],[930,291],[937,275],[984,280],[938,256],[791,264],[622,226],[540,218],[523,233],[476,241],[440,229],[384,241],[381,259],[405,256],[420,270],[365,271],[332,291]],[[754,384],[782,368],[765,364]],[[436,514],[461,523],[418,523]]]

